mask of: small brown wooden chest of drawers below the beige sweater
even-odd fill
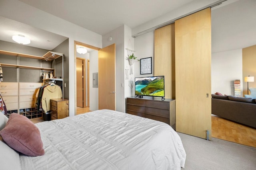
[[[51,99],[51,120],[69,116],[68,99]]]

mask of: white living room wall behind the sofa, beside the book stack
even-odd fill
[[[240,80],[242,95],[242,49],[212,53],[212,94],[234,96],[234,80]]]

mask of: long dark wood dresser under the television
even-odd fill
[[[126,113],[169,124],[175,129],[175,100],[157,97],[127,98]]]

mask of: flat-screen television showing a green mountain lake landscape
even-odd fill
[[[162,97],[164,100],[164,76],[137,77],[135,78],[135,96]]]

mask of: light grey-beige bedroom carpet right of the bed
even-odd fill
[[[256,148],[178,133],[186,151],[184,170],[256,170]]]

